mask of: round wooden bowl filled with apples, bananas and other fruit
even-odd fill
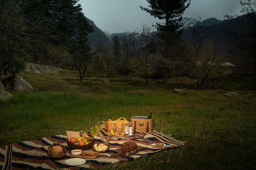
[[[84,132],[80,137],[67,138],[67,145],[72,149],[87,150],[90,149],[95,143],[92,134]]]

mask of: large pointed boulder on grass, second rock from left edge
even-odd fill
[[[9,77],[5,80],[6,86],[11,90],[18,92],[27,91],[30,92],[33,90],[33,86],[26,82],[21,76]]]

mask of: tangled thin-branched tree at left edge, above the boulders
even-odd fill
[[[47,24],[38,15],[25,12],[39,1],[3,0],[0,5],[0,77],[12,76],[38,54],[38,48],[49,46]]]

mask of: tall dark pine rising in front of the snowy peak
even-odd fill
[[[170,63],[172,59],[177,57],[179,51],[174,48],[177,47],[177,43],[181,42],[181,19],[182,14],[186,8],[190,5],[190,0],[147,0],[150,4],[145,8],[140,8],[150,15],[157,17],[160,20],[164,20],[164,23],[156,23],[158,29],[158,58],[160,67],[163,69],[164,82],[167,82],[167,78],[170,76]],[[187,4],[186,4],[187,3]]]

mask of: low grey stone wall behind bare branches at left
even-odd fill
[[[34,63],[28,63],[26,71],[40,71],[41,73],[59,73],[60,68],[49,66],[49,65],[39,65]]]

